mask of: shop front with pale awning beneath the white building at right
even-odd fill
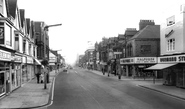
[[[164,85],[185,88],[185,55],[158,57],[158,64],[150,69],[163,73]]]

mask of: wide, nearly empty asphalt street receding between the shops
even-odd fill
[[[53,103],[47,109],[184,109],[185,101],[85,69],[56,77]]]

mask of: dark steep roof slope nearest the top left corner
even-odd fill
[[[17,0],[7,0],[9,14],[15,19]]]

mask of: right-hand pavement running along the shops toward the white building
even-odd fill
[[[97,71],[97,70],[88,70],[91,71],[95,74],[98,75],[102,75],[102,76],[107,76],[107,73],[105,73],[105,75],[103,75],[103,73],[101,71]],[[115,76],[113,74],[109,75],[110,78],[114,78],[114,79],[118,79],[118,76]],[[172,97],[175,97],[177,99],[181,99],[181,100],[185,100],[185,89],[182,88],[178,88],[176,86],[166,86],[163,85],[163,79],[155,79],[155,83],[153,78],[145,78],[145,80],[143,78],[132,78],[132,77],[124,77],[122,76],[121,81],[131,81],[133,84],[141,87],[141,88],[145,88],[148,90],[152,90],[152,91],[156,91],[162,94],[166,94]]]

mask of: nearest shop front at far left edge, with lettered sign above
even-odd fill
[[[10,93],[11,53],[0,50],[0,96]]]

